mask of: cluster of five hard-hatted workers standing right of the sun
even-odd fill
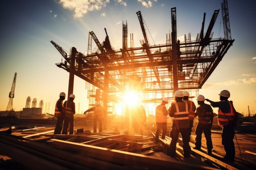
[[[191,130],[193,127],[193,119],[198,116],[198,125],[195,129],[195,147],[193,149],[201,150],[202,132],[206,138],[207,154],[212,153],[213,144],[211,140],[211,127],[213,124],[213,110],[212,107],[218,107],[218,124],[223,127],[222,130],[222,145],[225,148],[224,160],[234,162],[235,147],[234,147],[234,126],[232,126],[232,120],[235,117],[235,109],[232,101],[229,101],[230,93],[227,90],[220,92],[220,102],[213,102],[209,99],[205,99],[203,95],[198,95],[197,101],[199,107],[196,108],[195,104],[189,100],[189,93],[187,91],[175,91],[175,102],[171,104],[171,107],[167,110],[166,104],[168,99],[163,98],[162,103],[157,106],[156,125],[157,130],[155,133],[155,142],[159,142],[159,132],[162,128],[162,139],[165,139],[167,132],[167,115],[173,117],[173,125],[170,131],[170,137],[172,138],[170,144],[169,155],[175,157],[176,144],[179,133],[182,136],[184,157],[190,157],[191,148],[189,146]],[[204,101],[210,102],[205,104]]]

